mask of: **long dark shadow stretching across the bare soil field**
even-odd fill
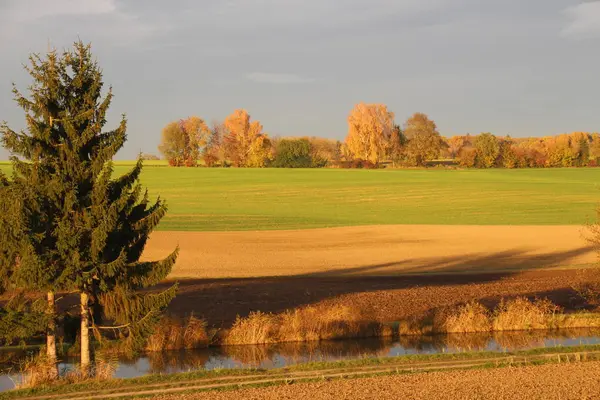
[[[536,287],[536,279],[551,281],[550,284],[545,283],[546,289],[540,291],[539,295],[546,295],[565,307],[568,306],[565,298],[572,294],[569,292],[570,282],[577,279],[578,270],[543,269],[549,264],[568,264],[569,260],[591,250],[592,247],[588,246],[532,255],[521,249],[476,257],[471,255],[405,260],[296,276],[185,279],[179,281],[179,293],[169,306],[169,312],[177,315],[193,313],[206,318],[210,325],[230,326],[236,316],[247,316],[252,311],[279,313],[346,295],[416,290],[423,287],[451,287],[451,292],[468,294],[475,286],[480,292],[485,292],[487,286],[491,291],[496,291],[481,296],[491,306],[491,303],[499,301],[501,297],[507,297],[506,293],[501,293],[501,288],[492,288],[492,284],[509,282],[513,278],[525,280],[522,284],[530,285],[533,289]],[[386,269],[407,262],[414,265],[403,268],[402,274],[385,275]],[[536,268],[535,265],[540,267]],[[423,269],[429,272],[422,273]],[[163,285],[166,287],[169,284],[165,282]],[[548,285],[553,286],[552,290],[547,289]],[[535,296],[537,292],[531,290],[527,293]],[[399,302],[399,308],[409,307],[410,305],[401,304],[404,301],[402,296],[402,293],[395,295],[393,301]],[[424,303],[427,300],[422,299]],[[423,306],[419,304],[419,307]]]

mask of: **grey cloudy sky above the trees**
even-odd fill
[[[120,159],[237,108],[271,135],[340,140],[361,101],[444,136],[600,130],[600,1],[0,0],[0,120],[24,127],[28,55],[78,39],[113,87],[107,128],[127,116]]]

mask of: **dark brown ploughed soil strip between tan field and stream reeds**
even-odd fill
[[[237,315],[278,313],[304,305],[345,305],[371,321],[421,317],[436,308],[479,300],[494,307],[517,296],[549,298],[566,311],[588,305],[574,287],[598,281],[595,270],[550,270],[484,274],[392,277],[264,277],[189,279],[169,307],[176,315],[206,318],[211,326],[231,326]]]

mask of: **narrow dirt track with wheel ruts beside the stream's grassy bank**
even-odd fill
[[[215,389],[236,389],[247,386],[256,385],[280,385],[280,384],[291,384],[309,382],[314,380],[328,381],[337,378],[360,378],[364,376],[380,375],[380,374],[405,374],[405,373],[423,373],[428,371],[445,371],[455,369],[469,369],[474,367],[482,367],[484,365],[525,365],[531,362],[538,361],[554,361],[558,362],[578,362],[583,360],[597,359],[600,356],[600,352],[587,352],[587,353],[555,353],[555,354],[544,354],[536,356],[502,356],[497,357],[486,357],[476,359],[463,359],[463,360],[437,360],[437,361],[406,361],[398,359],[397,362],[390,362],[383,365],[371,365],[371,366],[356,366],[356,367],[340,367],[336,369],[322,369],[315,371],[296,371],[289,372],[282,370],[281,372],[274,371],[271,373],[254,374],[254,375],[238,375],[238,376],[226,376],[226,377],[206,377],[195,380],[187,381],[171,381],[164,383],[153,383],[146,385],[136,386],[122,386],[119,388],[111,388],[96,391],[81,391],[71,392],[68,396],[72,400],[82,399],[109,399],[109,398],[121,398],[128,396],[153,396],[159,395],[164,396],[166,394],[173,395],[165,398],[181,398],[178,393],[190,392],[190,391],[211,391]],[[590,362],[591,364],[591,362]],[[260,389],[249,389],[249,390],[260,390]],[[231,397],[223,398],[234,398],[232,395],[236,392],[229,392]],[[212,395],[217,397],[212,397]],[[47,396],[35,396],[28,397],[30,400],[54,400],[63,398],[65,394],[47,395]],[[204,394],[198,394],[203,396]],[[210,397],[198,397],[198,398],[221,398],[221,393],[210,392]],[[189,395],[190,398],[195,398],[195,395]],[[186,395],[187,397],[187,395]],[[245,395],[242,398],[247,398]],[[256,397],[260,398],[260,397]]]

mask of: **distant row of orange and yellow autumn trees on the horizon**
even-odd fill
[[[172,166],[281,168],[423,167],[440,160],[465,168],[596,166],[600,135],[574,132],[542,138],[491,133],[443,137],[433,119],[413,114],[400,126],[384,104],[357,104],[341,141],[271,137],[246,110],[208,124],[192,116],[167,124],[159,151]],[[148,156],[151,158],[152,156]]]

